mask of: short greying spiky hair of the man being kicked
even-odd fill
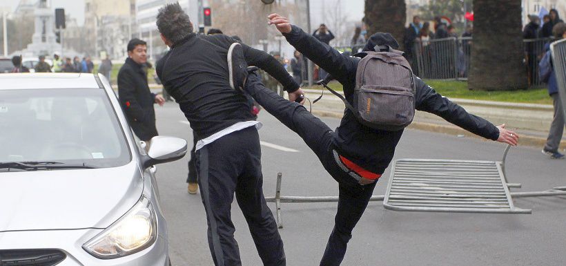
[[[168,3],[163,8],[159,8],[157,30],[173,44],[177,44],[193,32],[193,23],[188,19],[179,2]]]

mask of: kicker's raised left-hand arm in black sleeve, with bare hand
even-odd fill
[[[344,85],[344,89],[348,87],[347,85],[355,83],[355,70],[358,67],[356,59],[342,55],[312,35],[306,34],[297,26],[292,26],[286,17],[271,14],[268,19],[269,24],[275,25],[277,30],[282,32],[283,36],[289,41],[289,44],[315,64],[324,68]],[[351,87],[353,88],[353,86]]]

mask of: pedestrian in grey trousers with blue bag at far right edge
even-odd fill
[[[566,24],[560,22],[552,28],[552,32],[556,41],[559,39],[566,38]],[[545,50],[546,53],[550,53],[550,44],[546,44]],[[560,140],[562,140],[562,135],[564,133],[564,106],[562,106],[562,102],[560,101],[560,97],[558,96],[558,82],[556,80],[556,73],[554,72],[554,66],[552,65],[552,57],[548,57],[550,60],[550,66],[552,69],[552,73],[550,73],[548,79],[548,94],[552,97],[552,102],[554,105],[554,119],[552,120],[552,124],[550,124],[550,130],[547,137],[547,143],[543,148],[543,154],[548,155],[552,159],[564,159],[564,154],[558,152],[558,148],[560,147]],[[543,60],[545,57],[543,57]]]

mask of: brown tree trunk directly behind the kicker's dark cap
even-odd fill
[[[402,45],[406,17],[404,0],[365,0],[368,37],[375,32],[389,32]]]

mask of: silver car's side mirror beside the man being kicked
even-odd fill
[[[148,154],[143,158],[144,168],[179,160],[187,151],[186,140],[179,137],[155,136],[150,143]]]

